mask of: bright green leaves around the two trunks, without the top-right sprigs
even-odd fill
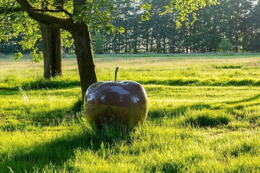
[[[77,12],[73,15],[72,1],[49,0],[30,1],[30,3],[35,8],[33,10],[59,18],[73,17],[75,22],[85,22],[93,31],[99,31],[101,28],[107,33],[124,31],[124,28],[112,25],[113,18],[111,18],[110,12],[114,10],[114,7],[109,1],[86,1],[85,4],[77,6]],[[0,41],[8,41],[20,34],[23,40],[18,44],[22,46],[23,50],[30,50],[35,62],[41,61],[42,52],[38,51],[36,45],[36,42],[41,40],[39,23],[27,16],[16,1],[1,1],[0,10]],[[71,47],[73,39],[67,31],[62,31],[62,40],[65,48]]]

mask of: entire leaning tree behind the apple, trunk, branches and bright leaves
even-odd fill
[[[152,5],[146,2],[146,0],[140,2],[141,10],[144,11],[144,14],[141,16],[142,20],[149,19],[151,15],[149,10],[151,10]],[[198,7],[202,8],[206,4],[216,3],[215,0],[185,0],[177,2],[170,1],[170,4],[165,6],[166,11],[161,13],[172,12],[173,7],[175,7],[178,11],[177,27],[181,26],[178,24],[179,20],[184,19],[187,21],[188,14],[197,10]],[[35,21],[68,31],[75,43],[82,97],[84,97],[88,86],[97,81],[90,31],[102,29],[107,34],[110,31],[114,33],[122,33],[124,31],[123,27],[113,24],[112,11],[114,11],[113,3],[106,0],[3,0],[0,5],[0,32],[1,35],[7,35],[6,40],[13,37],[10,35],[12,31],[15,31],[15,34],[22,32],[26,35],[31,33],[31,37],[26,36],[24,40],[37,38],[34,33],[38,31],[39,27],[37,27]],[[195,16],[196,13],[192,15]],[[196,18],[194,17],[194,19]],[[10,26],[5,27],[5,24]],[[24,25],[27,25],[31,32],[24,30]],[[33,42],[35,43],[36,41],[34,40]],[[36,56],[37,48],[32,47],[30,46],[32,49],[31,53]],[[21,54],[16,54],[16,58],[19,57],[21,57]]]

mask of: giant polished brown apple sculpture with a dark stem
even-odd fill
[[[148,112],[147,94],[141,84],[134,81],[101,81],[92,84],[84,99],[85,115],[89,123],[102,125],[103,121],[116,121],[128,128],[143,123]]]

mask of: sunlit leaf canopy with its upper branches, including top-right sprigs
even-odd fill
[[[122,2],[122,1],[121,1]],[[36,46],[37,40],[41,40],[40,27],[38,22],[33,20],[35,17],[29,16],[41,16],[46,20],[52,20],[52,25],[62,28],[59,19],[71,18],[74,22],[83,21],[90,30],[113,33],[124,32],[124,27],[116,25],[115,16],[111,16],[111,12],[115,10],[114,4],[119,1],[64,1],[64,0],[3,0],[0,4],[0,36],[1,40],[8,41],[12,38],[17,38],[22,35],[22,39],[18,42],[22,46],[23,51],[30,50],[33,54],[34,61],[38,62],[42,59],[42,52],[39,51]],[[131,3],[131,2],[129,2]],[[151,8],[153,1],[132,1],[132,5],[139,6],[139,15],[142,20],[148,20],[151,16]],[[176,10],[178,13],[176,27],[181,26],[181,21],[185,21],[185,24],[193,23],[196,19],[195,10],[205,7],[207,4],[217,4],[216,0],[185,0],[185,1],[168,1],[165,2],[165,10],[161,11],[160,15],[167,14]],[[29,14],[29,16],[27,15]],[[143,13],[143,14],[142,14]],[[188,14],[192,13],[194,17],[192,21],[188,18]],[[44,15],[41,15],[44,14]],[[51,18],[50,18],[51,17]],[[55,18],[53,18],[55,17]],[[138,20],[138,18],[136,18]],[[42,19],[38,18],[38,21]],[[57,20],[56,23],[54,20]],[[49,21],[50,22],[50,21]],[[48,22],[47,22],[48,23]],[[71,47],[73,40],[69,32],[62,31],[63,44],[65,47]],[[1,41],[0,40],[0,41]],[[21,52],[21,51],[20,51]],[[40,53],[40,56],[37,56]],[[17,54],[16,57],[21,57],[21,54]]]

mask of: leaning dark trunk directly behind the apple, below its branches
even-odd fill
[[[82,99],[84,99],[88,87],[97,82],[91,36],[88,26],[84,23],[76,22],[73,27],[70,33],[75,43]]]

